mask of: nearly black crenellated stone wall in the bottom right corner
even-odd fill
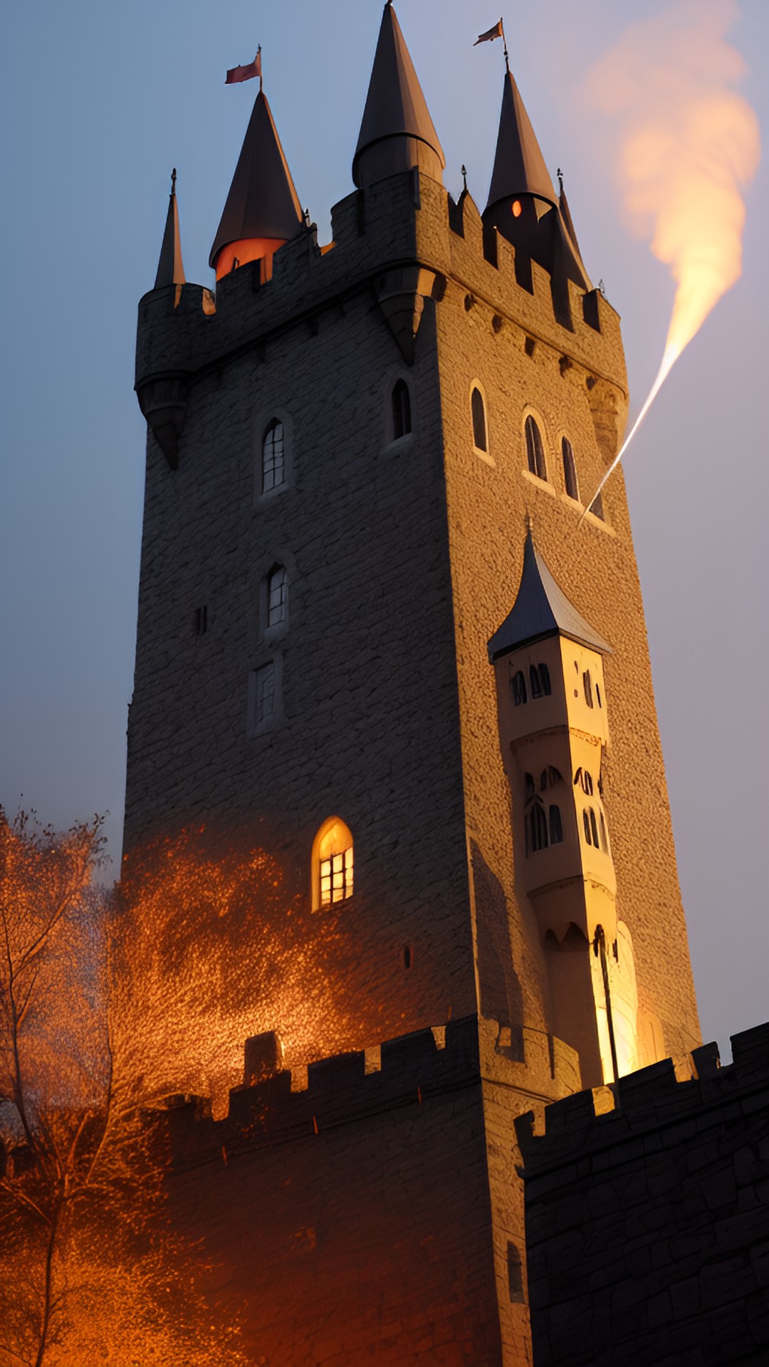
[[[769,1359],[769,1024],[732,1051],[517,1120],[536,1367]]]

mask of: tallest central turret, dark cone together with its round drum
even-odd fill
[[[353,180],[376,180],[417,168],[441,183],[446,159],[421,93],[391,0],[384,5],[353,157]]]

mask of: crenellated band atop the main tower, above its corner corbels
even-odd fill
[[[343,308],[345,298],[376,290],[378,278],[389,271],[416,267],[438,280],[434,298],[450,282],[488,310],[490,324],[498,317],[520,328],[627,398],[620,320],[599,291],[582,294],[569,282],[572,328],[564,327],[556,319],[547,272],[534,264],[532,288],[521,286],[513,247],[494,231],[494,252],[484,254],[488,230],[469,195],[461,208],[458,232],[457,215],[450,215],[456,206],[443,186],[417,172],[400,174],[334,206],[334,239],[327,247],[319,247],[315,228],[308,227],[275,254],[270,280],[263,279],[260,262],[224,276],[215,308],[211,291],[201,286],[149,291],[138,312],[140,396],[166,373],[183,373],[194,383],[323,309]]]

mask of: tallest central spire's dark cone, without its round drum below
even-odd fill
[[[353,157],[356,185],[360,185],[359,161],[361,153],[374,142],[404,134],[426,142],[436,154],[441,165],[446,165],[446,157],[430,118],[398,18],[393,5],[386,4]]]

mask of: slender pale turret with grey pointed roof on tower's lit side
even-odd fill
[[[516,884],[546,951],[553,1032],[579,1051],[584,1087],[639,1066],[632,943],[617,923],[603,808],[610,653],[530,532],[519,593],[488,658],[513,798]]]

